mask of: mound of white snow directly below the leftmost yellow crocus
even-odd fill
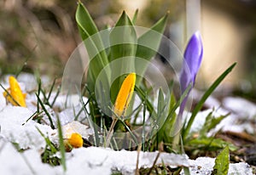
[[[18,143],[20,149],[41,148],[44,138],[38,129],[48,135],[52,129],[48,125],[40,125],[36,121],[26,120],[32,116],[32,111],[27,108],[8,105],[0,112],[0,136],[10,142]]]

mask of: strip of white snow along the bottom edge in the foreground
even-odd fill
[[[104,148],[79,148],[67,153],[67,172],[65,174],[111,174],[118,170],[123,174],[134,174],[137,166],[137,151],[114,151]],[[158,152],[140,152],[138,167],[151,167]],[[15,161],[13,160],[15,157]],[[186,155],[160,153],[156,165],[164,161],[166,166],[189,167],[193,174],[211,174],[214,166],[213,158],[200,157],[189,160]],[[63,169],[50,167],[40,160],[40,152],[35,149],[19,153],[9,142],[0,138],[1,173],[9,174],[63,174]],[[230,164],[229,174],[253,174],[246,163]],[[183,174],[183,172],[181,172]]]

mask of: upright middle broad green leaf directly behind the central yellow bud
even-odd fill
[[[113,79],[117,78],[111,87],[111,100],[113,102],[125,79],[123,72],[135,71],[134,56],[137,50],[137,34],[125,11],[113,27],[109,37],[111,45],[110,61],[119,59],[117,60],[118,67],[113,66],[111,68]]]

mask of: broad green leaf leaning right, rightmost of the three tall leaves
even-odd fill
[[[162,34],[166,28],[167,16],[168,14],[166,14],[156,24],[154,24],[150,30],[138,38],[136,52],[137,58],[146,59],[149,61],[157,53],[158,48],[160,47]],[[138,62],[139,60],[135,60],[136,71],[139,72],[140,75],[143,75],[148,65],[141,65],[138,64]],[[139,83],[141,80],[142,79],[138,79],[137,82]]]

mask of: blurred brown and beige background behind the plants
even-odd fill
[[[256,85],[256,3],[244,0],[87,0],[82,1],[99,29],[114,25],[121,12],[149,27],[170,13],[166,37],[183,52],[200,30],[204,58],[197,88],[206,88],[233,62],[224,86],[253,99]],[[67,59],[81,42],[74,14],[76,1],[1,0],[0,76],[17,71],[61,77]],[[161,48],[172,55],[164,43]],[[168,59],[168,58],[167,58]],[[160,63],[162,64],[162,63]],[[168,75],[166,73],[166,75]],[[254,99],[255,100],[255,99]]]

